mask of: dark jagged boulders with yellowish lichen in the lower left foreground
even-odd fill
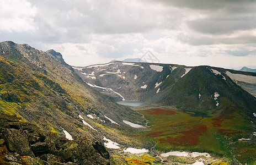
[[[0,113],[0,161],[10,164],[110,164],[109,153],[101,142],[86,137],[61,138],[44,133],[34,124]]]

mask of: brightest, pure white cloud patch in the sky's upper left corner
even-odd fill
[[[34,17],[37,9],[26,0],[2,0],[0,2],[0,31],[35,31]]]

